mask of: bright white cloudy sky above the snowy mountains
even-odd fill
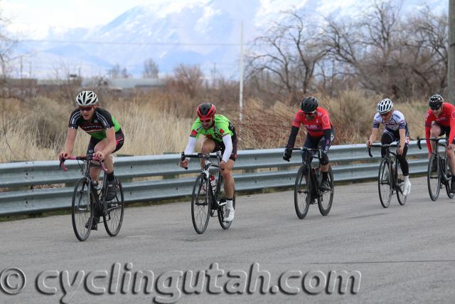
[[[0,12],[3,18],[9,19],[8,29],[25,36],[45,36],[50,26],[60,31],[68,28],[92,28],[105,25],[134,6],[148,4],[160,6],[166,4],[165,11],[178,10],[182,3],[207,3],[210,0],[0,0]],[[225,0],[229,1],[229,0]],[[245,0],[248,1],[248,0]],[[259,16],[271,12],[302,6],[308,0],[259,0],[262,11]],[[354,7],[360,3],[374,0],[320,0],[320,13],[334,9]],[[449,0],[394,0],[405,4],[445,4]],[[30,35],[31,34],[31,35]],[[21,35],[19,35],[21,36]],[[19,38],[19,37],[18,37]]]

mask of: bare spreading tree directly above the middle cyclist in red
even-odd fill
[[[296,101],[311,90],[316,65],[326,56],[326,49],[320,43],[316,22],[296,11],[282,14],[284,21],[255,39],[248,56],[248,77],[262,73]]]

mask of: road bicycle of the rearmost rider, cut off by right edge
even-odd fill
[[[417,137],[417,146],[419,149],[422,149],[420,145],[421,140],[427,140],[427,138]],[[432,156],[429,158],[428,170],[427,170],[427,184],[428,184],[428,193],[432,201],[436,201],[439,196],[439,191],[442,187],[446,187],[447,196],[452,199],[455,195],[454,192],[451,192],[451,178],[452,174],[449,169],[449,164],[447,162],[446,150],[444,152],[439,152],[438,147],[447,147],[448,139],[444,137],[431,137],[428,140],[435,142],[434,151]],[[444,143],[439,142],[444,140]]]

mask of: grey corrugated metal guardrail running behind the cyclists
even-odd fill
[[[291,162],[282,159],[283,149],[243,150],[235,163],[235,189],[252,191],[294,185],[301,157],[294,153]],[[332,146],[329,158],[335,182],[355,182],[378,176],[380,150],[374,149],[373,159],[365,145]],[[419,150],[410,142],[407,152],[410,173],[427,172],[427,150]],[[173,199],[191,195],[194,176],[200,172],[197,161],[190,162],[188,171],[177,166],[180,154],[139,157],[116,157],[115,174],[122,180],[127,203]],[[32,214],[71,206],[72,184],[82,176],[76,161],[67,161],[68,171],[58,167],[58,161],[16,162],[0,164],[0,215]],[[188,174],[193,177],[188,177]],[[158,180],[134,182],[139,177],[161,177]],[[67,187],[48,186],[65,184]],[[43,187],[44,189],[30,189]],[[27,189],[24,189],[27,188]]]

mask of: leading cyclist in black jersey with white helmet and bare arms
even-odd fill
[[[77,95],[76,104],[79,106],[70,115],[68,136],[65,142],[65,150],[58,154],[59,159],[65,159],[73,152],[77,128],[90,135],[87,154],[105,159],[107,169],[107,194],[106,200],[114,199],[117,192],[117,184],[114,179],[114,164],[110,155],[119,150],[124,142],[124,135],[119,122],[107,110],[98,108],[97,95],[92,91],[82,91]],[[100,167],[91,167],[90,175],[96,182],[100,176]],[[96,229],[97,221],[93,221]]]

